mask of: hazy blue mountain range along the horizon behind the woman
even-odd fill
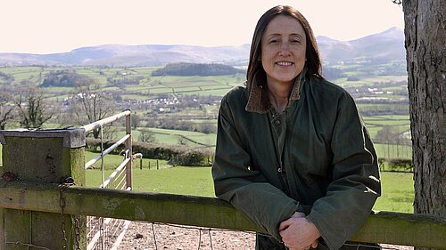
[[[400,28],[364,36],[351,41],[338,41],[318,36],[318,49],[324,63],[339,61],[405,60],[404,33]],[[223,63],[247,65],[251,44],[241,46],[194,45],[124,45],[105,44],[81,47],[70,52],[51,54],[0,53],[0,65],[60,66],[162,66],[173,62]]]

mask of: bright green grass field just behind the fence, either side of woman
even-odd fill
[[[111,173],[107,171],[105,178]],[[215,197],[211,167],[177,166],[160,170],[134,169],[134,190],[178,195]],[[413,213],[414,185],[412,173],[381,173],[382,196],[374,210]],[[98,187],[101,172],[87,171],[87,186]]]

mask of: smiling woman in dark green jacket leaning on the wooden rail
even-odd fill
[[[321,76],[308,21],[290,6],[265,12],[246,86],[221,101],[217,197],[268,232],[256,249],[344,249],[380,194],[376,162],[351,96]]]

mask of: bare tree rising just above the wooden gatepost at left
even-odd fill
[[[33,88],[25,94],[20,93],[15,105],[19,109],[20,124],[25,128],[42,128],[53,117],[53,113],[47,111],[42,93]]]

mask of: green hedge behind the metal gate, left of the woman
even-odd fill
[[[107,149],[116,140],[103,141],[103,148]],[[101,149],[101,140],[87,138],[87,149],[99,152]],[[120,154],[124,150],[124,145],[114,149],[111,154]],[[210,166],[213,161],[213,151],[211,149],[197,149],[184,145],[164,145],[153,142],[133,142],[133,153],[141,153],[145,158],[156,158],[168,160],[170,165],[185,166]]]

